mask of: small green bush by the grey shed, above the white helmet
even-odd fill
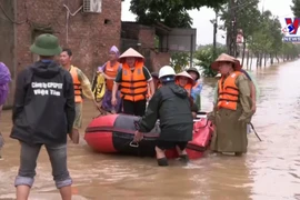
[[[171,67],[174,68],[177,73],[184,70],[184,68],[189,64],[190,56],[186,52],[174,52],[171,54]]]

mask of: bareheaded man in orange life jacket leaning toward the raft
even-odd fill
[[[63,49],[60,53],[61,66],[71,73],[74,88],[74,102],[76,102],[76,119],[73,124],[73,130],[71,132],[71,139],[73,143],[79,143],[80,133],[79,129],[82,126],[82,104],[83,96],[93,101],[93,104],[99,110],[99,104],[94,100],[94,96],[91,91],[91,83],[87,76],[77,67],[71,64],[72,51],[70,49]]]

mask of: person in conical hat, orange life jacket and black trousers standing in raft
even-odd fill
[[[147,106],[148,84],[151,93],[154,93],[154,84],[151,73],[144,67],[144,58],[134,49],[129,48],[119,57],[119,62],[122,63],[122,69],[114,80],[111,104],[117,104],[117,91],[121,87],[123,112],[143,116]]]

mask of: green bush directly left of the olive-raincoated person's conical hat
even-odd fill
[[[226,52],[224,46],[217,46],[216,53],[217,56]],[[197,66],[200,66],[200,68],[203,70],[202,76],[203,77],[216,77],[217,72],[211,70],[211,63],[217,59],[213,56],[213,47],[211,44],[204,46],[198,49],[198,51],[194,53],[194,58],[198,60]]]

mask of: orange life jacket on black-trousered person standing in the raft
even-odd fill
[[[148,83],[143,74],[143,62],[136,62],[133,71],[127,63],[122,67],[121,98],[129,101],[144,100],[148,92]]]

